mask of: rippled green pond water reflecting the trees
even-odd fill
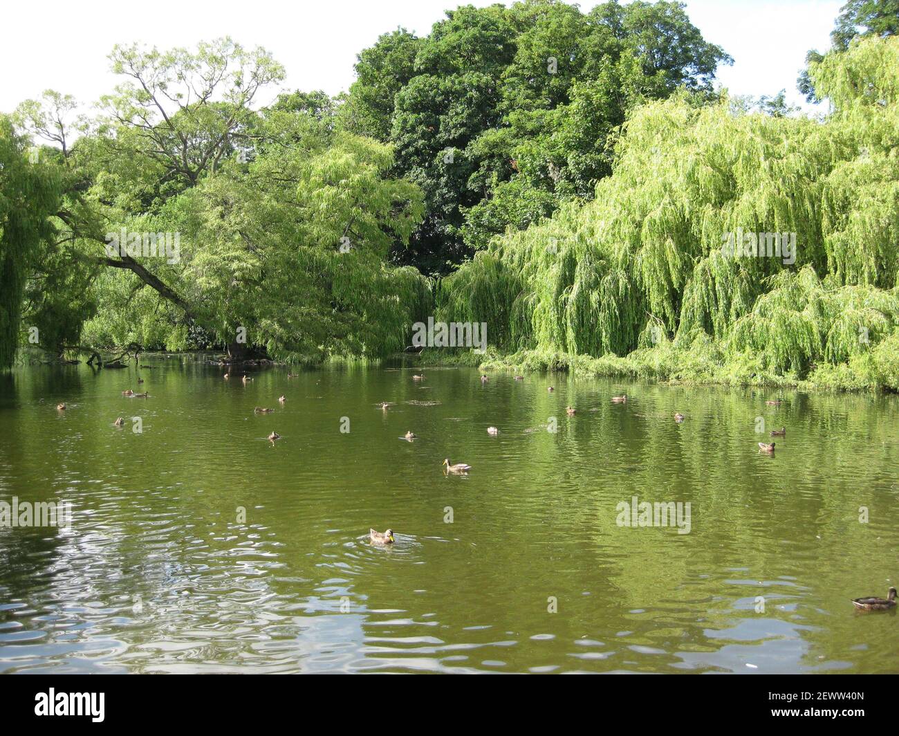
[[[141,362],[0,378],[0,500],[73,509],[0,528],[0,671],[899,671],[897,397]]]

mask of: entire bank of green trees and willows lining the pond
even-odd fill
[[[845,5],[817,117],[717,94],[671,2],[462,6],[267,105],[264,49],[117,46],[93,115],[0,117],[0,368],[379,357],[436,316],[495,366],[899,389],[897,29]]]

